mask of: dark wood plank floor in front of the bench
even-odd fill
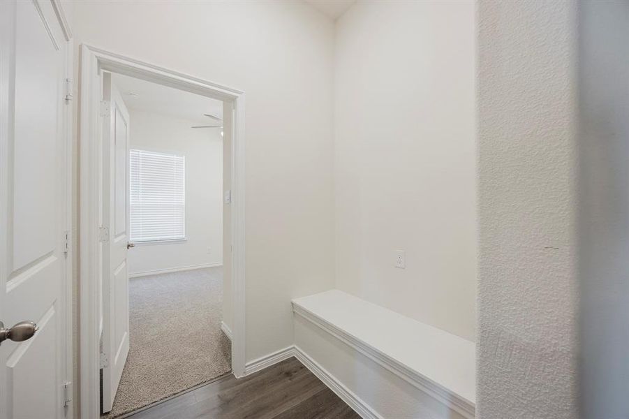
[[[244,378],[231,374],[129,419],[357,419],[343,400],[295,358]]]

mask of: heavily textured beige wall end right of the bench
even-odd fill
[[[480,419],[577,413],[576,3],[478,3]]]

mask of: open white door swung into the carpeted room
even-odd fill
[[[112,409],[129,352],[129,114],[110,73],[103,73],[103,110],[104,413]]]

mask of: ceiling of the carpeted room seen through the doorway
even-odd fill
[[[165,87],[126,75],[112,73],[126,107],[156,114],[188,119],[200,125],[219,125],[203,114],[223,117],[223,102],[188,91]],[[137,95],[137,96],[136,96]]]

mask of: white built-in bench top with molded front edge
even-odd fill
[[[463,418],[475,417],[473,342],[338,290],[297,298],[293,311],[296,322],[304,319],[316,325]],[[296,330],[296,339],[297,348],[313,347],[304,352],[317,352],[308,354],[316,362],[339,356],[332,354],[334,346],[317,350],[316,344],[306,343],[316,337],[300,338]]]

